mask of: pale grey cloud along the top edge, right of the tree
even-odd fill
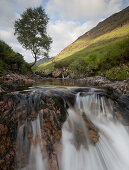
[[[49,0],[47,11],[51,17],[97,18],[117,12],[122,2],[123,0]]]

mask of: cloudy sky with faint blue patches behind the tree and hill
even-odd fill
[[[50,18],[50,56],[55,56],[99,21],[127,7],[129,0],[0,0],[0,40],[23,54],[28,62],[33,57],[14,37],[14,21],[26,8],[40,5]]]

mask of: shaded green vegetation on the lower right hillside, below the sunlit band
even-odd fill
[[[129,38],[120,38],[108,43],[97,43],[63,60],[57,61],[55,68],[69,67],[76,78],[105,75],[110,79],[123,80],[129,78],[126,67],[129,63]],[[126,67],[123,68],[122,65]],[[49,65],[50,67],[51,65]],[[117,71],[117,67],[120,69]],[[46,65],[47,67],[47,65]],[[114,71],[112,72],[112,69]]]

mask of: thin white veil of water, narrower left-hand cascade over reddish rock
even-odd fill
[[[32,141],[31,146],[28,142],[28,132],[32,131]],[[18,143],[20,144],[20,152],[25,152],[23,146],[26,145],[24,149],[28,150],[28,163],[25,168],[18,168],[20,170],[46,170],[47,169],[47,159],[43,159],[43,153],[41,151],[42,141],[41,141],[41,127],[39,116],[36,120],[31,121],[27,124],[25,129],[25,138],[23,138],[23,126],[19,128],[18,132]],[[30,148],[30,149],[29,149]],[[22,156],[18,152],[18,157]],[[22,162],[22,160],[21,160]]]

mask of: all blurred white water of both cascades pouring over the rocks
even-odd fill
[[[44,90],[44,89],[43,89]],[[78,90],[79,91],[79,90]],[[114,102],[92,90],[77,92],[74,106],[67,109],[67,119],[62,128],[62,151],[57,153],[59,170],[129,170],[129,133],[116,117]],[[99,140],[93,144],[84,120],[86,116],[97,129]],[[48,157],[42,148],[41,126],[43,117],[19,123],[17,157],[22,162],[23,150],[28,165],[21,170],[48,170]],[[31,132],[31,146],[28,135]],[[24,137],[23,137],[24,133]],[[53,169],[51,169],[53,170]],[[56,169],[55,169],[56,170]]]

